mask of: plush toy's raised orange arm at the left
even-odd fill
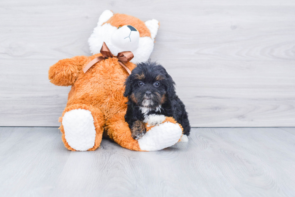
[[[76,56],[70,59],[59,60],[49,68],[48,78],[50,82],[60,86],[73,85],[87,60],[88,57],[86,56]]]

